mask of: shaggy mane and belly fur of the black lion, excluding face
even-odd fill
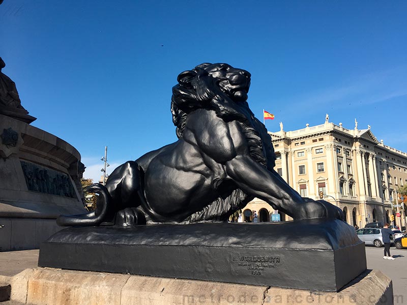
[[[225,121],[238,121],[249,143],[250,155],[270,171],[275,165],[275,154],[270,135],[260,121],[254,117],[246,101],[235,103],[222,92],[219,79],[213,72],[226,64],[201,64],[178,76],[178,84],[172,87],[171,113],[177,127],[177,137],[184,133],[188,114],[196,109],[214,110]],[[210,68],[208,72],[206,68]],[[217,198],[185,221],[227,220],[236,210],[243,208],[254,197],[236,188],[225,198]]]

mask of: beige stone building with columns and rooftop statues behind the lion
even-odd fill
[[[303,197],[324,199],[339,206],[352,226],[389,222],[397,189],[407,184],[407,154],[377,141],[368,129],[345,129],[329,123],[271,133],[275,170]],[[396,208],[395,208],[396,209]],[[405,212],[396,224],[405,225]],[[243,209],[242,221],[270,221],[273,208],[254,199]],[[281,221],[292,220],[281,212]]]

